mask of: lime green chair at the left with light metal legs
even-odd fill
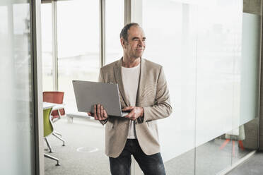
[[[52,125],[52,121],[51,121],[51,118],[50,118],[50,114],[51,114],[51,111],[52,111],[52,107],[49,107],[49,108],[46,108],[43,110],[43,123],[44,123],[44,138],[47,142],[47,146],[49,147],[49,150],[50,152],[52,152],[52,148],[47,140],[47,136],[52,134],[53,131],[54,131],[54,127]],[[45,157],[49,158],[49,159],[54,159],[57,161],[57,164],[56,166],[59,166],[59,159],[57,159],[56,157],[52,157],[51,155],[47,155],[47,154],[44,154]]]

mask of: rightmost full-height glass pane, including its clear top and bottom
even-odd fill
[[[233,122],[235,134],[232,163],[251,150],[257,150],[259,138],[259,56],[261,42],[262,1],[243,1],[242,49],[240,59],[240,115]]]

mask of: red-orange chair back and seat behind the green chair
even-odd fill
[[[64,92],[46,91],[43,92],[43,102],[63,104]],[[65,109],[52,111],[52,121],[60,119],[60,116],[65,115]]]

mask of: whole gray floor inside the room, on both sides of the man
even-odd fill
[[[62,146],[62,142],[53,135],[48,137],[54,152],[45,152],[59,158],[61,166],[57,167],[52,159],[45,158],[46,175],[110,174],[108,157],[104,154],[104,127],[100,123],[84,119],[74,119],[73,123],[69,123],[64,118],[55,122],[54,127],[56,131],[62,133],[66,146]],[[168,175],[217,174],[249,152],[241,150],[237,144],[233,152],[231,142],[220,149],[225,141],[216,138],[170,159],[165,162],[166,173]]]

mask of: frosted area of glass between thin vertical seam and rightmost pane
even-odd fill
[[[196,146],[231,131],[240,116],[242,1],[198,4]],[[236,127],[235,127],[236,128]]]

